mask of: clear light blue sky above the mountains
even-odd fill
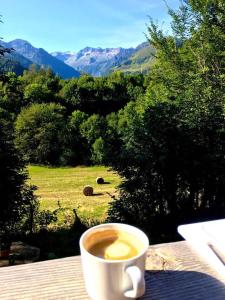
[[[167,0],[172,8],[179,0]],[[0,36],[21,38],[53,51],[136,47],[145,41],[148,16],[169,28],[163,0],[0,0]]]

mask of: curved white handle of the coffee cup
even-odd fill
[[[125,297],[133,299],[141,297],[145,292],[145,280],[143,272],[141,272],[137,266],[128,267],[125,271],[130,276],[133,284],[133,289],[124,293]]]

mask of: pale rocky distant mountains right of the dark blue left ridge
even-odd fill
[[[104,76],[115,70],[125,73],[147,73],[154,62],[154,53],[154,48],[148,42],[144,42],[136,48],[86,47],[77,53],[51,54],[81,73]]]

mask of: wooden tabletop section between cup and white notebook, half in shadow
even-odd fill
[[[225,299],[225,278],[187,242],[150,247],[146,270],[145,300]]]

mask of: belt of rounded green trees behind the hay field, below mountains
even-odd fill
[[[115,72],[108,77],[60,80],[50,69],[32,65],[22,76],[7,73],[1,77],[0,107],[17,118],[16,144],[27,162],[99,163],[98,142],[93,145],[100,137],[106,138],[106,115],[143,95],[145,88],[142,75]],[[47,103],[61,105],[63,117],[54,119],[54,109],[49,108],[53,104]]]

